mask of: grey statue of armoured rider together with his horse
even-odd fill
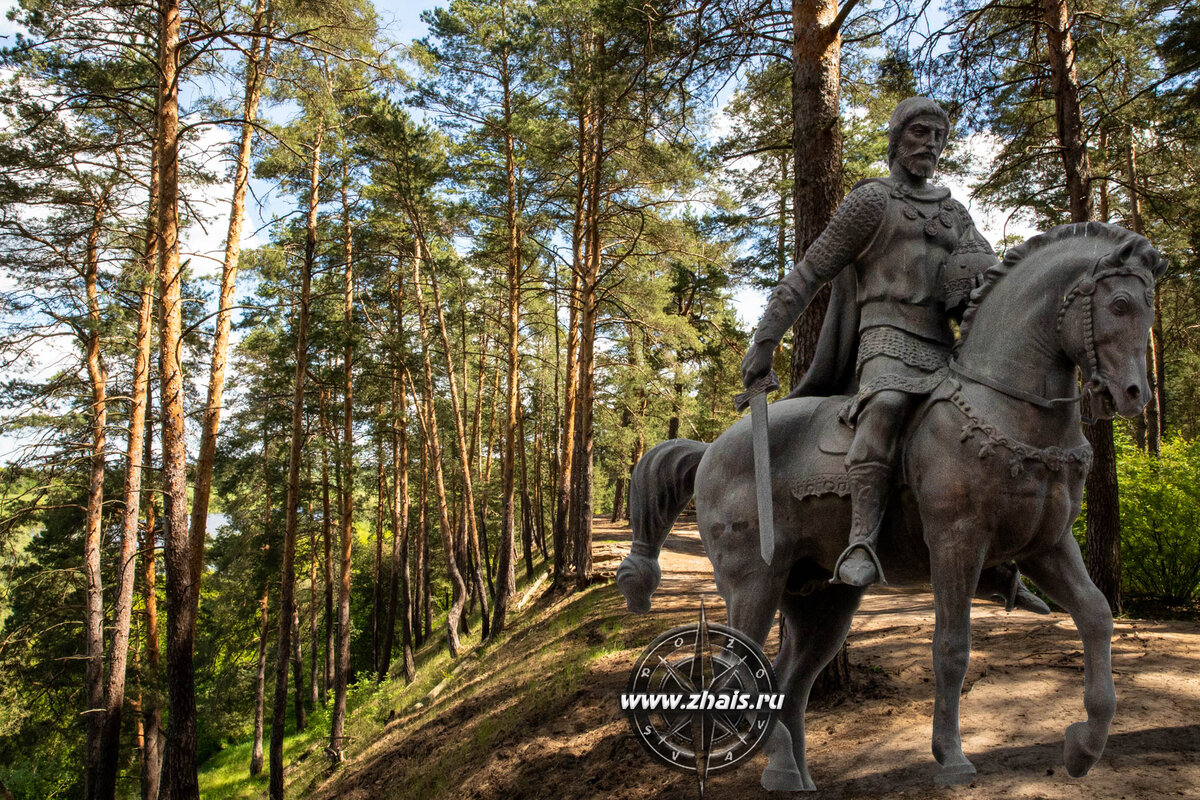
[[[788,699],[766,747],[768,789],[815,788],[809,690],[884,571],[894,584],[934,588],[940,783],[974,776],[958,726],[972,596],[1039,603],[1013,563],[1084,640],[1087,721],[1067,729],[1068,772],[1086,774],[1108,739],[1112,619],[1070,534],[1091,464],[1080,405],[1092,417],[1133,416],[1148,401],[1145,351],[1165,261],[1144,237],[1090,222],[996,263],[965,209],[928,184],[947,128],[930,101],[898,107],[892,175],[847,196],[755,332],[748,385],[769,371],[778,337],[820,283],[834,281],[814,367],[769,407],[770,563],[760,555],[749,419],[712,445],[665,441],[634,471],[634,545],[617,576],[631,610],[649,609],[659,549],[692,495],[730,624],[761,643],[784,610],[775,664]],[[949,320],[960,314],[955,342]],[[822,397],[818,384],[845,393]]]

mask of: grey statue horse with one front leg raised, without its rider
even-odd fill
[[[976,772],[959,735],[971,600],[1003,593],[979,578],[1010,561],[1070,613],[1084,642],[1087,721],[1067,728],[1067,771],[1086,774],[1104,750],[1116,706],[1112,616],[1070,533],[1091,464],[1080,407],[1092,417],[1145,407],[1153,289],[1165,266],[1144,237],[1096,222],[1061,225],[1009,251],[973,293],[954,360],[906,433],[904,486],[893,492],[878,555],[889,583],[934,588],[940,783],[970,782]],[[617,575],[631,610],[649,610],[659,549],[692,495],[730,624],[762,643],[782,607],[775,669],[788,699],[766,746],[768,789],[815,788],[804,753],[809,690],[845,640],[864,591],[829,583],[850,525],[850,432],[838,421],[845,399],[770,405],[770,565],[758,554],[749,419],[712,445],[665,441],[634,470],[634,545]]]

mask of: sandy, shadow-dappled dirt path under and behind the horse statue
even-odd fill
[[[599,525],[595,560],[614,572],[629,530]],[[655,609],[698,610],[718,619],[724,604],[694,522],[682,521],[660,559]],[[613,591],[616,588],[613,587]],[[654,612],[652,612],[653,614]],[[1070,800],[1200,798],[1200,625],[1117,620],[1112,668],[1117,716],[1100,763],[1081,780],[1067,776],[1064,728],[1085,718],[1081,645],[1070,619],[977,602],[973,650],[962,697],[964,750],[976,783],[937,788],[929,750],[934,631],[929,591],[876,588],[850,636],[851,662],[869,676],[863,696],[809,714],[809,764],[816,798],[1062,798]],[[768,642],[768,652],[775,644]],[[647,757],[648,760],[648,757]],[[710,783],[706,798],[768,796],[757,786],[761,754]],[[625,786],[620,796],[655,796]],[[695,796],[672,784],[659,796]]]

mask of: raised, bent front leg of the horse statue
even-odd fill
[[[1067,609],[1084,639],[1084,708],[1087,722],[1067,728],[1067,774],[1087,775],[1104,752],[1109,726],[1116,714],[1112,686],[1112,612],[1104,595],[1087,576],[1079,545],[1069,533],[1057,545],[1021,561],[1028,575],[1051,600]]]

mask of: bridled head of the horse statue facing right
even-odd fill
[[[1151,398],[1146,345],[1166,260],[1142,236],[1126,234],[1085,269],[1058,312],[1060,343],[1084,374],[1093,419],[1136,416]]]

